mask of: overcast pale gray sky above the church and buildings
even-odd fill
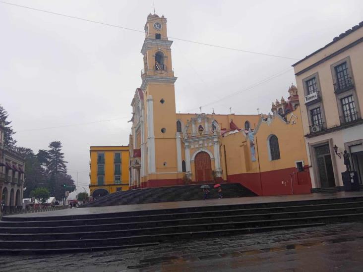
[[[297,59],[363,20],[362,0],[7,1],[138,30],[155,2],[171,37]],[[79,185],[87,186],[89,147],[128,144],[143,33],[0,2],[0,39],[0,104],[18,145],[37,152],[60,140],[69,173],[76,179],[78,170]],[[172,56],[181,112],[206,105],[206,113],[230,107],[239,114],[267,113],[295,84],[291,68],[249,88],[288,70],[293,59],[179,40]]]

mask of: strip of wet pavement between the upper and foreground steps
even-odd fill
[[[208,199],[206,201],[193,200],[193,201],[159,202],[159,203],[149,203],[149,204],[131,204],[131,205],[120,205],[120,206],[66,209],[66,210],[50,211],[42,213],[20,214],[8,217],[23,218],[23,217],[76,216],[76,215],[90,215],[90,214],[104,214],[104,213],[118,213],[118,212],[119,213],[134,212],[134,211],[145,211],[145,210],[178,209],[178,208],[202,207],[202,206],[288,202],[288,201],[303,201],[303,200],[362,197],[362,196],[363,196],[363,191],[313,193],[306,195],[240,197],[240,198]]]

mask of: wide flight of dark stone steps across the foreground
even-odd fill
[[[363,197],[77,216],[8,216],[0,221],[0,254],[106,250],[353,220],[363,220]]]

